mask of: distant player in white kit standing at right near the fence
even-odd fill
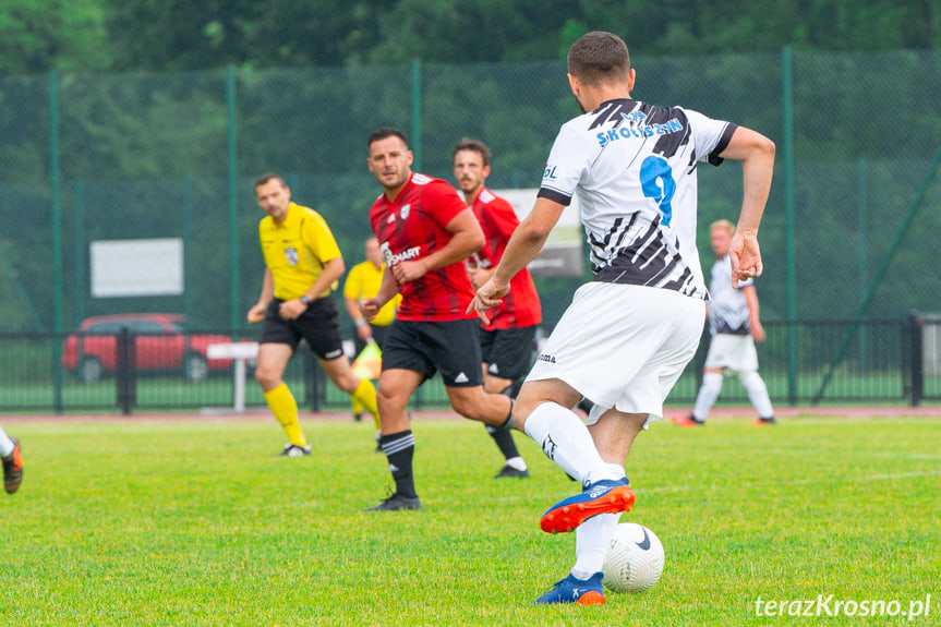
[[[709,227],[709,238],[716,262],[712,265],[709,289],[709,331],[712,341],[705,355],[702,385],[696,395],[692,413],[673,415],[674,424],[698,426],[705,423],[709,411],[722,394],[722,381],[727,371],[738,375],[748,399],[758,412],[756,425],[774,424],[774,408],[768,396],[768,387],[758,374],[758,352],[755,342],[764,341],[758,308],[758,292],[751,279],[738,281],[732,287],[728,246],[735,233],[735,225],[717,220]]]

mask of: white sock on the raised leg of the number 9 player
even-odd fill
[[[582,485],[624,477],[623,470],[618,477],[606,468],[588,427],[575,412],[557,402],[536,407],[526,419],[523,431],[546,457]]]

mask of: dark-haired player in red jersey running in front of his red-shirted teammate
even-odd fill
[[[456,412],[504,429],[511,424],[512,401],[484,391],[480,323],[466,313],[474,291],[463,262],[484,244],[473,212],[446,181],[412,172],[412,153],[400,131],[374,132],[369,150],[370,170],[384,188],[370,209],[370,224],[386,270],[379,293],[360,308],[372,318],[396,293],[402,294],[383,348],[377,398],[381,444],[396,492],[370,510],[419,509],[407,411],[418,387],[441,372]]]

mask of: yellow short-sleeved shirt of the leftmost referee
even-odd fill
[[[265,265],[275,281],[275,298],[289,301],[311,289],[324,264],[340,256],[326,220],[315,210],[291,203],[285,221],[266,216],[258,224]],[[337,281],[317,298],[329,296]]]

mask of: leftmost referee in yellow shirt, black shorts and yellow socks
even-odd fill
[[[311,445],[282,376],[301,339],[307,340],[330,381],[378,420],[376,390],[369,379],[353,374],[343,352],[331,294],[346,268],[327,222],[313,209],[292,203],[291,190],[278,174],[255,180],[255,198],[267,214],[258,225],[267,268],[258,302],[248,314],[251,323],[264,321],[255,378],[288,434],[290,442],[281,455],[300,457],[311,454]]]

